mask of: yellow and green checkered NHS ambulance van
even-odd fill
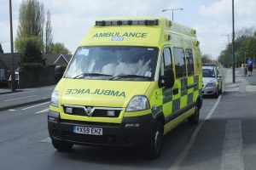
[[[199,122],[199,44],[194,29],[161,17],[96,20],[51,95],[55,149],[132,147],[160,156],[166,133]]]

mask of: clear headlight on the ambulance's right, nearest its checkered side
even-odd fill
[[[148,98],[146,96],[134,96],[129,102],[126,111],[143,111],[147,109],[150,109]]]

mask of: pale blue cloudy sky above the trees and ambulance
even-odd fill
[[[4,53],[10,52],[9,0],[0,0],[0,43]],[[22,0],[12,0],[14,41],[19,25],[19,8]],[[44,9],[51,12],[54,42],[63,42],[72,54],[95,20],[106,17],[163,16],[172,20],[172,11],[166,8],[183,8],[174,11],[174,21],[192,27],[197,32],[202,54],[212,59],[232,41],[231,0],[41,0]],[[46,14],[46,13],[45,13]],[[256,1],[235,0],[235,29],[256,28]]]

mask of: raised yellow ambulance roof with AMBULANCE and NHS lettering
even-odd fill
[[[80,43],[84,45],[158,46],[170,34],[195,38],[195,30],[162,17],[122,17],[96,20]]]

